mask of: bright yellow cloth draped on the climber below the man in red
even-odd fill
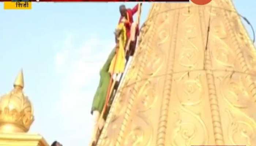
[[[111,61],[110,67],[109,67],[109,73],[123,73],[125,68],[125,42],[126,42],[126,29],[124,23],[120,23],[117,26],[117,30],[120,31],[120,36],[118,37],[119,41],[119,48],[117,49],[117,52],[114,56],[114,58]],[[116,65],[115,65],[116,64]],[[113,72],[114,70],[114,72]]]

